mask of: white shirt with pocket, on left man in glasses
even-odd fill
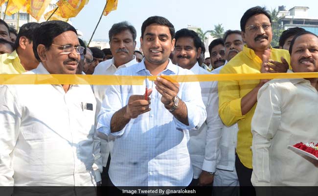
[[[26,74],[37,73],[49,74],[42,63]],[[0,186],[96,184],[101,156],[90,85],[67,93],[62,85],[6,85],[0,94]]]

